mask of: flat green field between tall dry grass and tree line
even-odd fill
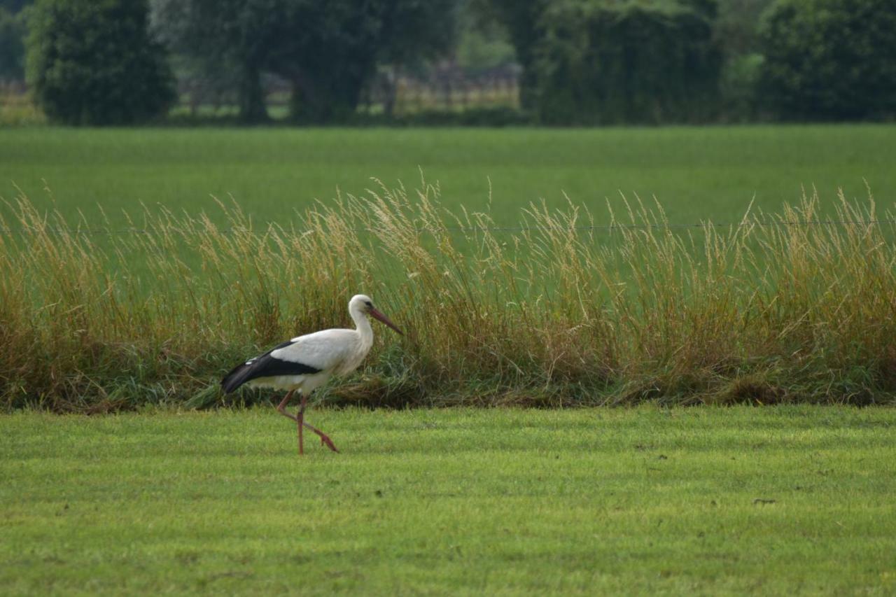
[[[233,195],[255,221],[288,222],[295,210],[336,189],[362,194],[420,169],[444,203],[488,207],[513,226],[520,210],[564,192],[606,221],[620,192],[652,203],[673,223],[737,221],[747,205],[778,212],[801,187],[823,199],[837,188],[865,199],[866,182],[885,206],[896,196],[896,125],[713,126],[606,129],[62,129],[2,132],[0,196],[19,186],[42,206],[116,222],[125,208],[160,203],[217,217],[216,195]],[[53,192],[51,200],[45,186]]]

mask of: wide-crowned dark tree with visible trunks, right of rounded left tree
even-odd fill
[[[444,48],[454,0],[153,0],[171,48],[237,73],[240,114],[266,117],[260,77],[292,85],[298,120],[332,122],[358,107],[378,62]],[[446,31],[447,30],[447,33]]]

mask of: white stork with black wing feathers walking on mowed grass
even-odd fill
[[[356,294],[349,300],[349,315],[355,321],[354,330],[323,330],[307,333],[288,342],[283,342],[263,355],[237,365],[224,379],[221,389],[225,394],[240,385],[273,387],[289,390],[277,411],[284,417],[296,421],[298,426],[298,454],[304,454],[302,428],[309,428],[321,438],[321,444],[333,452],[339,452],[329,437],[320,429],[305,422],[305,403],[315,388],[325,384],[331,376],[344,376],[358,368],[374,345],[374,330],[367,316],[374,316],[393,330],[401,333],[389,317],[374,308],[374,303],[363,294]],[[296,390],[301,393],[302,403],[296,417],[286,411],[286,405]]]

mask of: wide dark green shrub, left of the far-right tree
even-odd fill
[[[538,115],[550,125],[704,121],[718,103],[714,0],[570,0],[544,14]]]

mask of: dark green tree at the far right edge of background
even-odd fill
[[[762,22],[760,92],[787,119],[896,114],[896,0],[779,0]]]

